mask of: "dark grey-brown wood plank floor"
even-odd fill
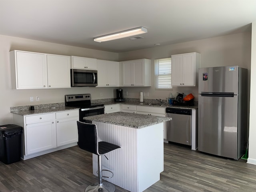
[[[154,165],[152,165],[154,166]],[[13,164],[0,162],[0,192],[84,192],[92,154],[78,146]],[[164,144],[164,172],[145,192],[255,192],[256,165]],[[127,192],[116,186],[116,192]]]

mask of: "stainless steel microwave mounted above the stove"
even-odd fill
[[[85,87],[97,86],[97,71],[86,69],[70,69],[71,86]]]

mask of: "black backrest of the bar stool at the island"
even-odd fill
[[[95,124],[77,122],[78,146],[88,152],[98,154],[97,127]]]

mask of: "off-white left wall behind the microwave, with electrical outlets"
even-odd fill
[[[11,106],[36,105],[64,102],[65,94],[90,93],[92,99],[114,98],[115,88],[65,88],[14,90],[10,88],[9,51],[24,50],[60,55],[74,55],[103,60],[118,61],[118,53],[66,46],[49,42],[0,35],[0,125],[11,124]],[[100,93],[103,93],[102,97]],[[39,102],[30,102],[30,96],[39,96]]]

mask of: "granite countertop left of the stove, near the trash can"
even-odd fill
[[[12,111],[11,113],[24,116],[24,115],[35,115],[35,114],[42,114],[42,113],[53,113],[53,112],[67,111],[67,110],[74,110],[74,109],[79,109],[79,108],[74,108],[74,107],[52,107],[52,108],[35,109],[35,110]]]

